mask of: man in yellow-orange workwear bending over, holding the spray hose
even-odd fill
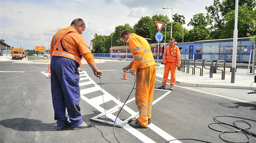
[[[150,45],[145,38],[124,30],[121,39],[129,43],[132,52],[133,65],[130,74],[136,72],[135,102],[139,110],[139,118],[130,123],[135,128],[147,128],[151,123],[151,110],[156,79],[156,62]],[[129,68],[129,65],[123,70]]]

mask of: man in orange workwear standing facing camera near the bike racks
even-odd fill
[[[170,39],[170,45],[165,48],[165,53],[163,55],[163,64],[165,65],[165,71],[163,76],[162,85],[159,89],[166,89],[166,83],[169,76],[169,71],[171,72],[170,80],[170,90],[174,90],[174,84],[176,83],[176,67],[180,67],[180,49],[178,46],[174,45],[175,39]]]

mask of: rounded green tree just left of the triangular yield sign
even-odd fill
[[[141,17],[141,19],[133,26],[134,32],[142,36],[144,38],[150,37],[150,21],[151,18],[149,16]]]

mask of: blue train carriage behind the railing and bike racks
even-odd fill
[[[238,63],[248,63],[251,54],[251,61],[255,41],[250,38],[237,39],[236,61]],[[211,59],[213,61],[225,60],[232,62],[233,39],[203,40],[195,42],[175,43],[180,48],[181,59]]]

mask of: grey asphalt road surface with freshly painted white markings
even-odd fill
[[[31,57],[28,56],[28,60]],[[35,57],[34,57],[35,58]],[[39,58],[39,57],[38,57]],[[41,57],[40,57],[41,58]],[[33,59],[34,60],[34,59]],[[211,143],[225,143],[219,138],[221,132],[215,130],[234,130],[221,124],[212,124],[215,116],[236,116],[245,120],[252,127],[248,131],[256,133],[256,105],[253,102],[241,102],[212,94],[213,89],[200,89],[176,86],[174,91],[155,90],[152,109],[152,124],[146,129],[132,128],[123,121],[136,116],[135,77],[127,74],[124,77],[122,68],[128,61],[106,61],[97,63],[103,76],[99,80],[93,75],[89,65],[82,64],[80,72],[80,107],[82,118],[92,125],[89,128],[71,130],[66,128],[56,131],[56,121],[52,107],[48,64],[0,62],[0,142],[1,143],[163,143],[171,139],[197,139]],[[155,87],[161,86],[156,81]],[[208,92],[211,91],[211,92]],[[220,92],[217,89],[216,94]],[[132,92],[131,92],[132,91]],[[202,91],[202,92],[201,92]],[[125,108],[121,110],[115,127],[113,123],[131,92]],[[247,92],[247,91],[244,91]],[[120,94],[120,96],[119,96]],[[240,93],[236,93],[239,95]],[[119,97],[120,100],[117,100]],[[104,100],[104,102],[103,102]],[[104,109],[105,107],[105,109]],[[95,117],[107,113],[106,116]],[[68,116],[68,115],[67,115]],[[98,122],[90,121],[98,119]],[[239,118],[218,117],[218,120],[233,124]],[[135,120],[135,119],[133,119]],[[105,122],[105,123],[104,123]],[[241,128],[247,128],[245,122],[236,121]],[[224,139],[232,142],[243,142],[250,138],[241,132],[223,133]],[[198,143],[200,141],[180,140],[171,143]],[[256,143],[252,137],[249,143]]]

